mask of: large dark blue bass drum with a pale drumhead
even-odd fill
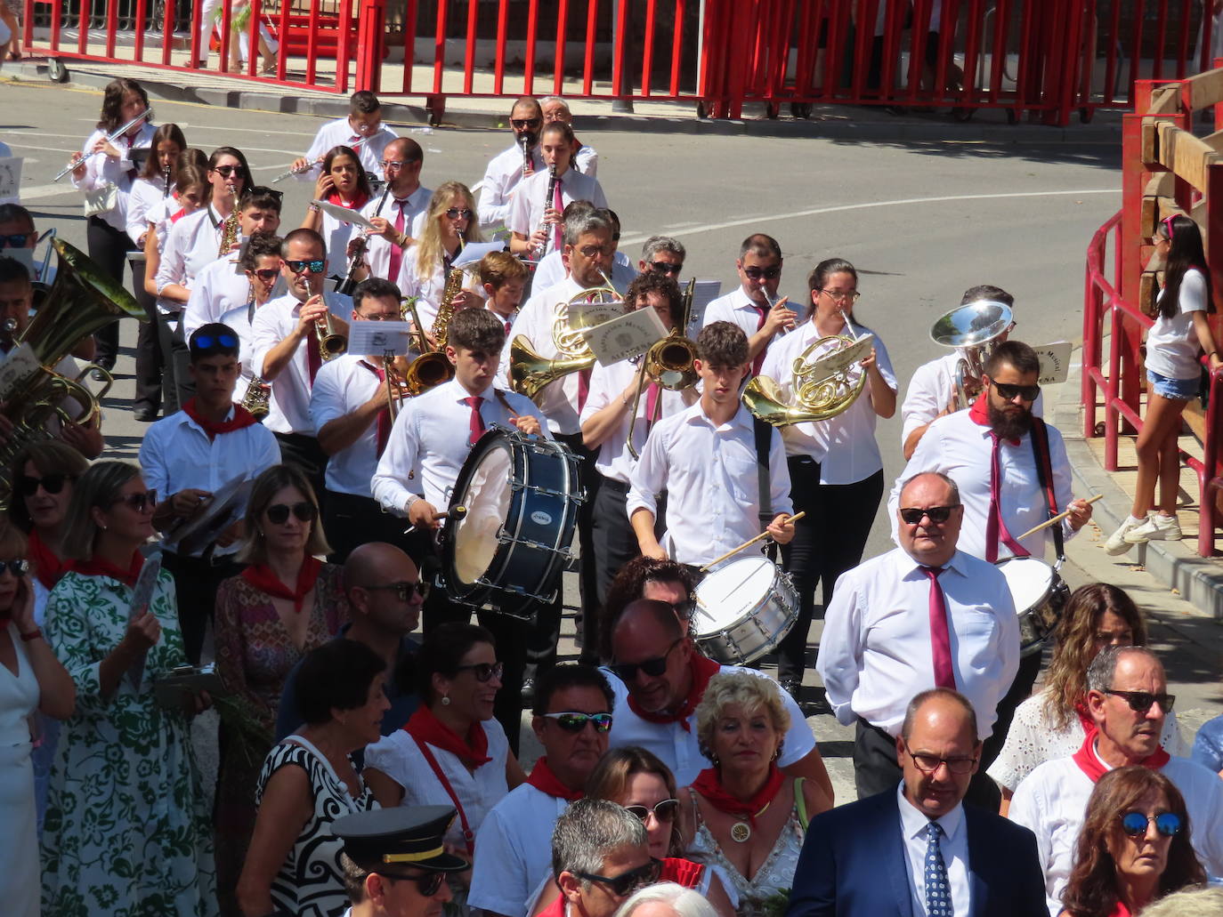
[[[509,609],[556,597],[582,503],[577,462],[560,443],[517,429],[494,424],[479,438],[442,529],[442,577],[453,602],[504,604],[530,620]]]

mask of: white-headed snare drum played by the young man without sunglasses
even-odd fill
[[[799,617],[799,593],[768,558],[741,558],[696,587],[692,627],[697,646],[725,665],[772,653]]]

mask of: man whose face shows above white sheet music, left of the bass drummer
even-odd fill
[[[399,320],[399,287],[371,278],[352,293],[352,322]],[[309,396],[319,447],[328,455],[323,531],[331,544],[328,556],[342,564],[367,542],[401,548],[404,522],[385,514],[373,499],[369,482],[390,436],[386,373],[382,355],[344,353],[324,363]]]

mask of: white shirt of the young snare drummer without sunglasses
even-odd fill
[[[790,470],[781,434],[769,430],[772,516],[793,512]],[[680,564],[700,566],[762,531],[759,477],[752,416],[742,405],[729,423],[714,427],[697,401],[654,424],[632,472],[626,511],[658,517],[658,495],[668,492],[667,532],[660,544]],[[729,558],[759,554],[759,545]]]

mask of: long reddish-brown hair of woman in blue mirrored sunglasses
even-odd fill
[[[1073,917],[1097,917],[1114,912],[1120,900],[1117,860],[1109,845],[1124,842],[1120,817],[1148,792],[1163,794],[1168,811],[1180,816],[1181,829],[1168,846],[1168,863],[1159,877],[1158,895],[1206,882],[1190,840],[1189,811],[1185,797],[1158,770],[1130,765],[1109,770],[1096,783],[1087,800],[1082,829],[1074,858],[1074,869],[1062,894],[1062,904]],[[1130,902],[1132,904],[1132,902]]]

